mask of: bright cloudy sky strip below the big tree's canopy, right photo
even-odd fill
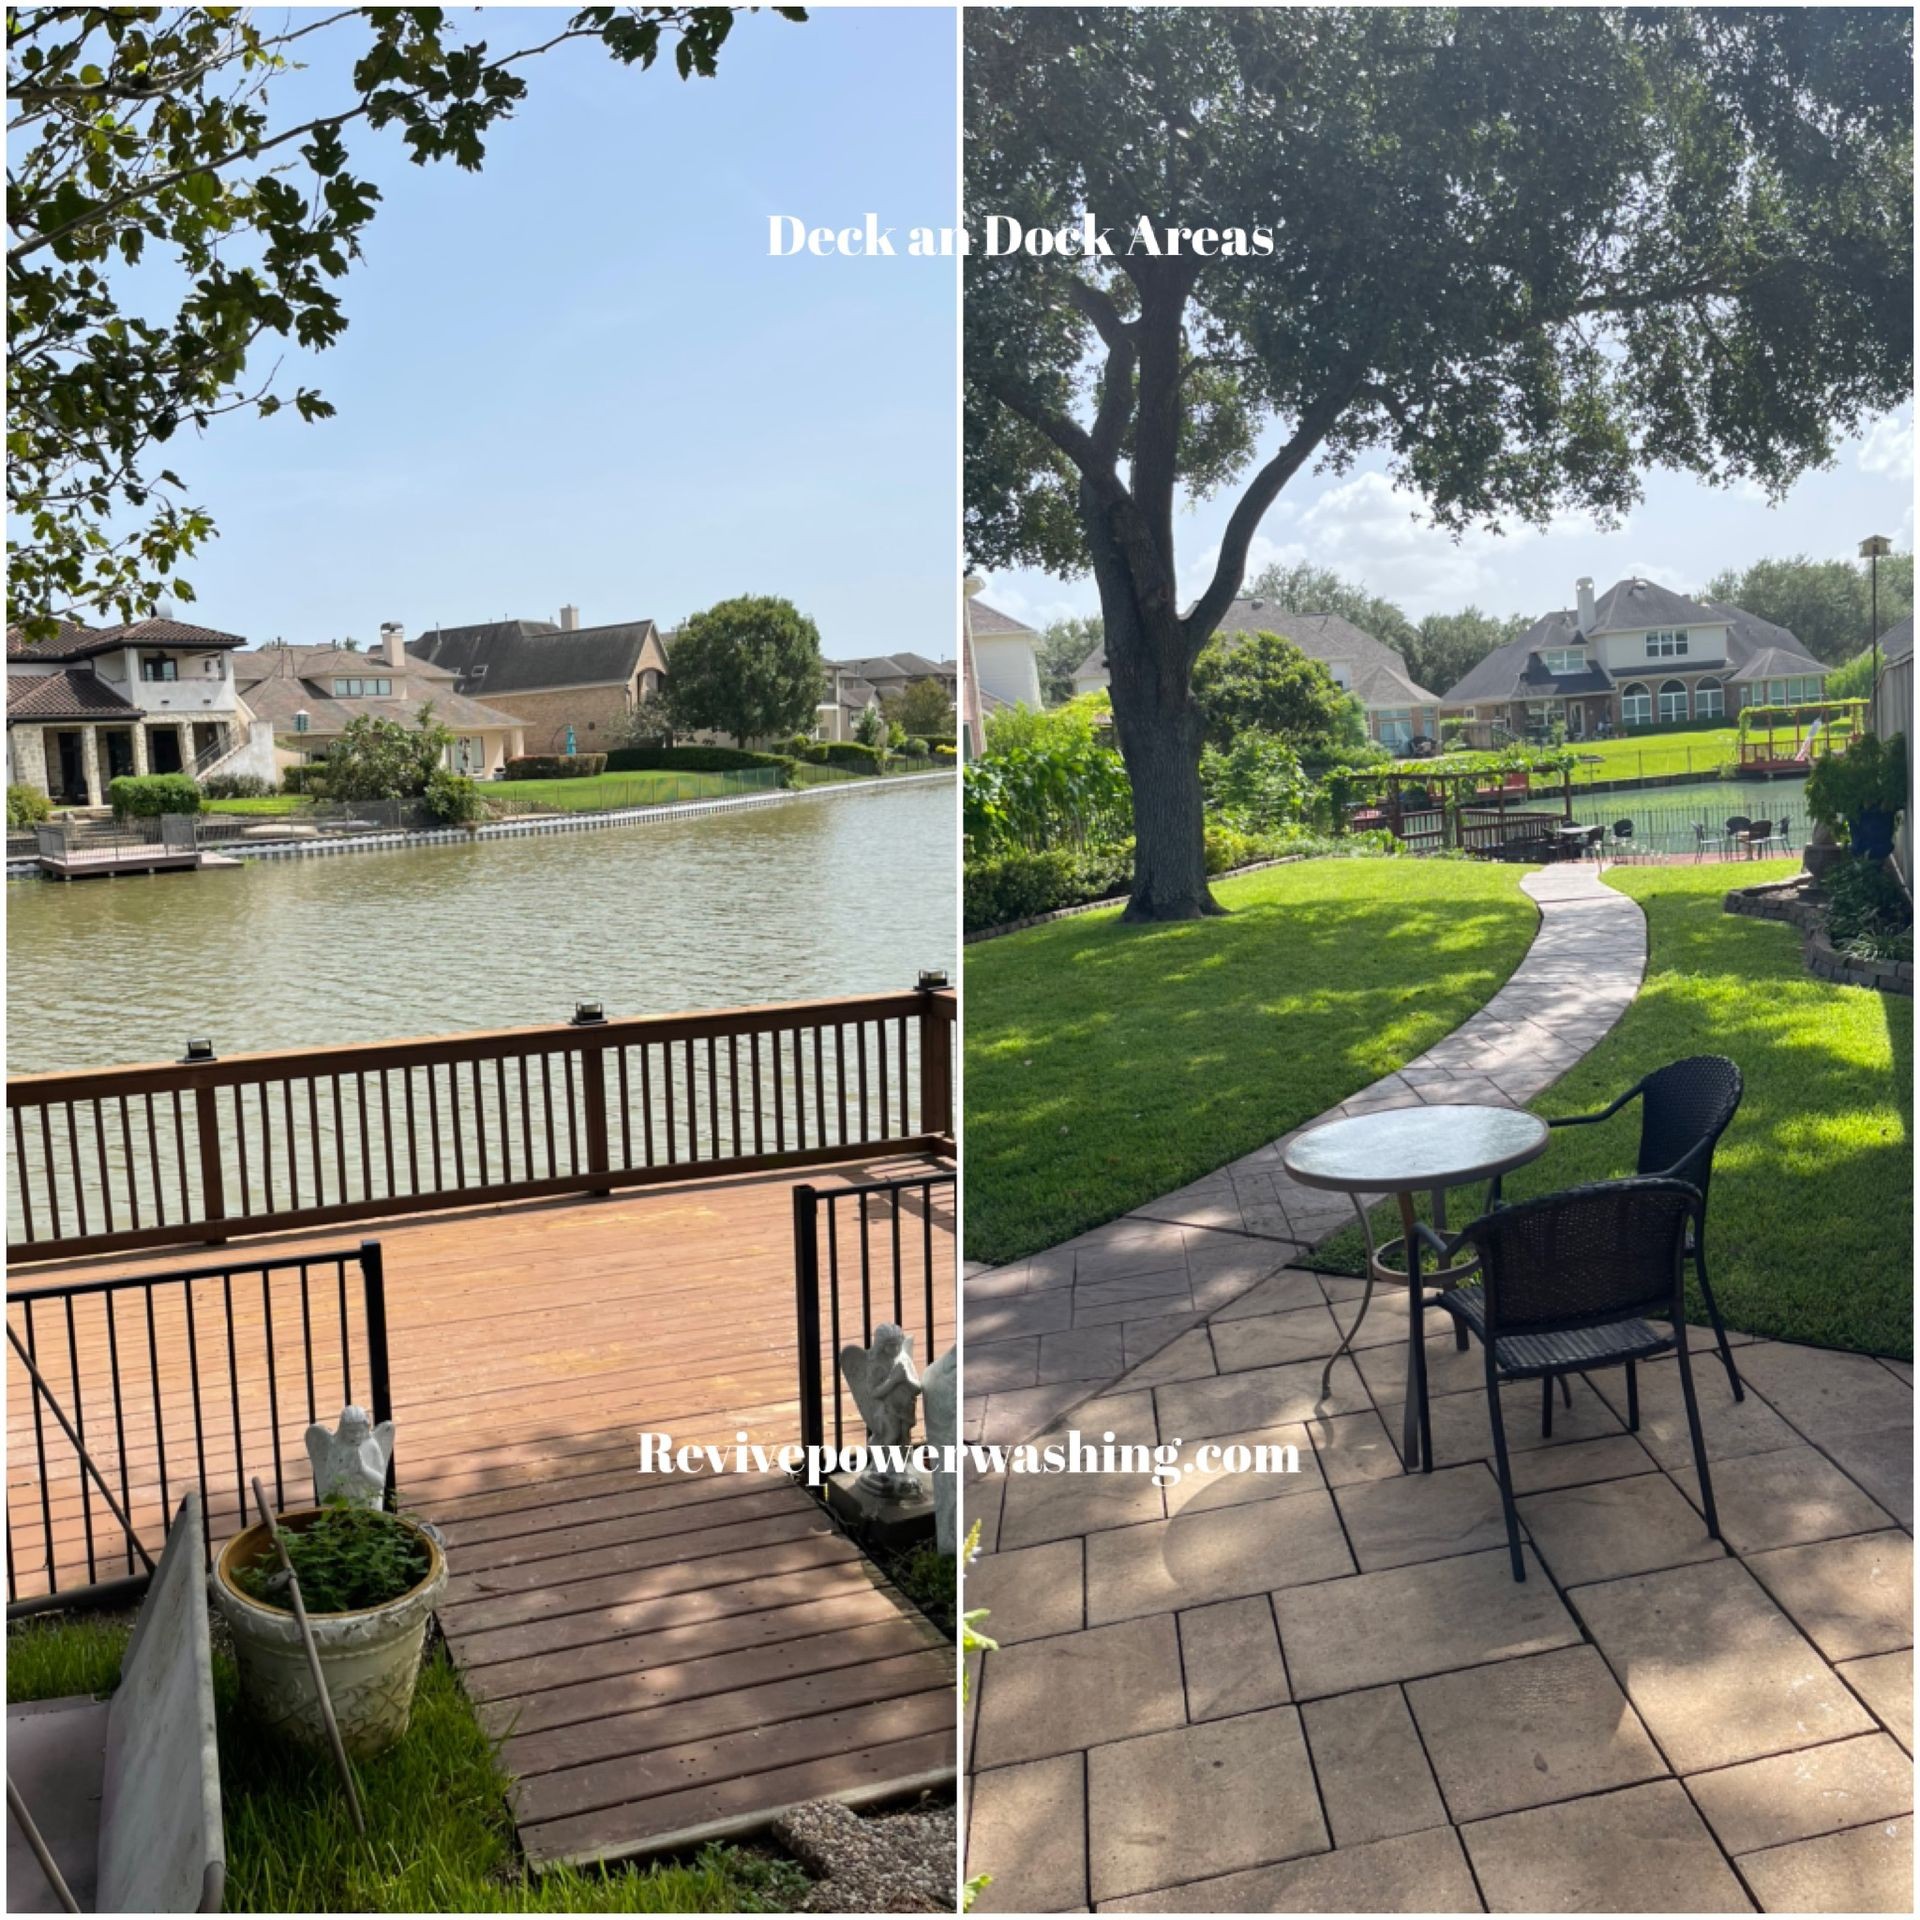
[[[1269,432],[1261,457],[1281,438]],[[1183,601],[1206,586],[1236,497],[1229,490],[1190,505],[1175,524]],[[1841,447],[1830,470],[1807,474],[1778,507],[1755,488],[1715,490],[1655,468],[1645,474],[1644,503],[1605,534],[1569,516],[1546,532],[1473,532],[1455,541],[1423,524],[1419,501],[1392,486],[1382,459],[1361,461],[1348,474],[1309,470],[1261,524],[1248,574],[1271,559],[1311,561],[1384,593],[1415,620],[1469,603],[1492,614],[1536,616],[1572,605],[1580,574],[1601,591],[1630,574],[1697,591],[1722,566],[1793,553],[1851,559],[1868,534],[1912,547],[1912,405]],[[1091,580],[1041,572],[987,574],[983,597],[1031,626],[1100,611]]]

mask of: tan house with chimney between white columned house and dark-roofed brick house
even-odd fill
[[[348,647],[263,647],[234,659],[248,707],[275,728],[278,772],[324,760],[349,722],[363,714],[417,726],[432,707],[453,730],[445,764],[474,780],[493,778],[524,753],[524,722],[467,699],[445,666],[407,651],[401,626],[382,626],[372,653]]]

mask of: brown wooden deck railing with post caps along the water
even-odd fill
[[[8,1081],[8,1258],[950,1152],[945,987]]]

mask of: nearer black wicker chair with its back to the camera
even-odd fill
[[[1626,1425],[1638,1430],[1636,1367],[1668,1348],[1680,1367],[1707,1534],[1720,1538],[1686,1344],[1688,1227],[1697,1221],[1699,1210],[1699,1190],[1686,1181],[1628,1179],[1571,1187],[1498,1208],[1452,1240],[1442,1240],[1430,1227],[1419,1229],[1444,1260],[1453,1260],[1467,1244],[1480,1260],[1478,1281],[1453,1286],[1432,1304],[1453,1317],[1463,1346],[1473,1334],[1486,1354],[1486,1413],[1494,1428],[1500,1505],[1507,1519],[1515,1580],[1526,1578],[1526,1563],[1521,1557],[1500,1388],[1511,1380],[1540,1380],[1544,1421],[1551,1432],[1555,1379],[1565,1382],[1569,1373],[1624,1367]],[[1667,1325],[1655,1325],[1659,1319]]]

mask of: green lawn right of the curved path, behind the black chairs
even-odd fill
[[[1607,883],[1647,916],[1645,985],[1534,1110],[1596,1112],[1686,1054],[1736,1060],[1747,1091],[1715,1156],[1707,1238],[1720,1313],[1747,1332],[1907,1357],[1912,1002],[1818,981],[1801,968],[1791,927],[1722,910],[1736,877],[1757,885],[1795,870],[1793,860],[1738,876],[1724,866],[1613,868]],[[1630,1173],[1636,1114],[1555,1135],[1507,1181],[1507,1196]],[[1382,1219],[1379,1231],[1400,1229]],[[1327,1242],[1321,1260],[1357,1271],[1359,1235]],[[1697,1302],[1692,1317],[1705,1321]]]

